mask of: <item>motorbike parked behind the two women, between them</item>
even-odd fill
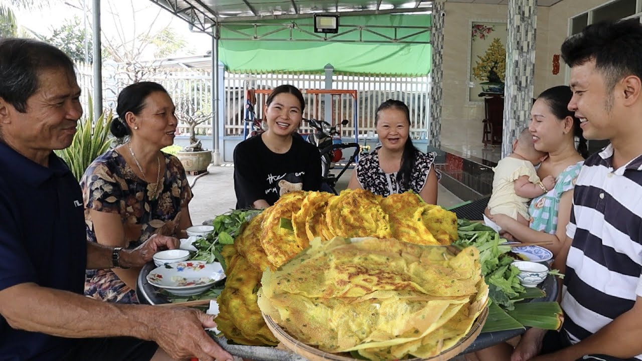
[[[308,135],[307,141],[317,146],[321,154],[321,177],[322,177],[322,191],[338,194],[336,191],[336,182],[341,178],[348,168],[358,160],[359,154],[362,151],[361,145],[358,143],[343,143],[341,134],[336,130],[336,126],[330,125],[327,121],[316,119],[303,119],[308,125],[313,128],[313,132]],[[345,127],[349,122],[343,120],[341,125]],[[330,171],[334,169],[334,163],[343,159],[343,149],[354,148],[354,152],[348,158],[347,162],[343,164],[338,174],[333,174]]]

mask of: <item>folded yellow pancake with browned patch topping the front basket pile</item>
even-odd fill
[[[377,290],[411,290],[456,297],[476,293],[481,277],[481,265],[474,256],[451,256],[444,247],[422,247],[393,239],[353,244],[334,238],[325,249],[324,245],[308,249],[304,254],[311,252],[312,259],[283,265],[286,274],[295,276],[275,285],[275,292],[332,298],[363,297]],[[304,254],[300,256],[305,258]]]

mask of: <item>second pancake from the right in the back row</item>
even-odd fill
[[[412,191],[393,194],[381,200],[381,208],[388,214],[392,237],[423,245],[440,244],[422,220],[423,200]]]

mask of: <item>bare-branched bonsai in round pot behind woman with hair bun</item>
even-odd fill
[[[196,127],[212,118],[211,112],[196,110],[196,106],[188,98],[177,102],[177,118],[189,126],[189,145],[179,150],[176,154],[185,171],[192,174],[207,171],[207,166],[212,161],[212,152],[204,149],[201,141],[196,139]]]

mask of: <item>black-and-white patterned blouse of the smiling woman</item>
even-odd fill
[[[403,188],[397,182],[397,172],[385,173],[379,166],[379,155],[377,151],[381,146],[377,146],[372,153],[365,155],[359,159],[356,166],[357,180],[361,188],[367,189],[374,194],[388,197],[388,195],[395,193],[404,193],[412,189],[413,192],[419,194],[421,189],[426,185],[428,173],[435,163],[437,153],[430,152],[428,154],[417,150],[417,158],[415,159],[415,168],[412,170],[412,177],[408,188]],[[441,173],[438,170],[437,179],[441,178]]]

